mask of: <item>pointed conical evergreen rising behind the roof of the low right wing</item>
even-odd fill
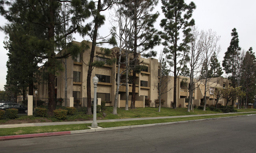
[[[211,78],[217,78],[223,74],[215,52],[211,57],[210,67],[211,69],[209,70],[209,75]]]

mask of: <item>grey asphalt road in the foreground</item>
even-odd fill
[[[255,153],[256,115],[0,142],[1,153]]]

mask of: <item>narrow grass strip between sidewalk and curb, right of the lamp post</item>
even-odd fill
[[[205,118],[231,117],[231,116],[240,116],[240,115],[249,115],[249,114],[255,114],[255,113],[210,115],[210,116],[199,116],[199,117],[163,118],[163,119],[153,119],[153,120],[133,120],[133,121],[120,121],[120,122],[102,122],[102,123],[98,123],[98,126],[103,128],[118,127],[118,126],[134,126],[134,125],[143,125],[143,124],[178,122],[178,121],[184,121],[184,120],[198,120],[198,119],[205,119]]]

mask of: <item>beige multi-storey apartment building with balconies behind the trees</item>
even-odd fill
[[[80,45],[80,42],[73,42]],[[72,57],[67,58],[67,97],[74,98],[86,98],[86,79],[88,71],[88,62],[90,60],[90,51],[91,51],[91,42],[86,42],[90,48],[84,50],[83,53],[77,55],[75,59]],[[118,49],[117,47],[112,48],[112,51]],[[103,48],[95,48],[95,58],[96,61],[107,61],[108,59],[114,59],[114,56],[102,55]],[[125,57],[121,57],[121,60],[124,60]],[[136,74],[136,102],[135,107],[144,107],[145,98],[152,100],[150,107],[154,107],[154,100],[158,98],[157,86],[159,85],[159,63],[155,58],[140,58],[141,65],[145,68],[138,74]],[[129,56],[129,60],[133,59],[133,55]],[[64,64],[63,64],[64,67]],[[121,71],[124,69],[124,66],[121,66]],[[97,85],[97,98],[101,98],[101,101],[106,102],[106,106],[114,105],[114,97],[116,94],[116,73],[117,73],[117,64],[107,65],[103,67],[94,67],[92,71],[92,78],[97,76],[99,82]],[[171,107],[173,102],[173,76],[165,76],[166,79],[166,88],[167,93],[164,93],[161,98],[165,100],[163,107]],[[92,79],[91,78],[91,79]],[[92,82],[92,81],[91,81]],[[207,89],[207,104],[215,104],[213,97],[213,90],[215,87],[225,87],[228,86],[230,82],[227,79],[222,77],[212,78],[208,82]],[[187,101],[186,98],[189,97],[189,78],[184,76],[178,76],[177,78],[177,107],[186,107]],[[201,82],[197,82],[195,86],[198,88],[194,91],[194,104],[197,106],[200,105],[204,97],[204,85]],[[41,82],[37,84],[38,97],[47,98],[47,82]],[[210,89],[212,88],[212,89]],[[169,91],[170,90],[170,91]],[[132,84],[129,84],[129,106],[131,105],[131,92]],[[93,93],[93,84],[91,84],[91,93]],[[56,98],[65,97],[65,71],[60,71],[56,74],[55,78],[55,94]],[[118,93],[118,107],[125,107],[125,97],[126,97],[126,88],[125,84],[122,84]],[[224,105],[224,100],[220,100],[220,103]]]

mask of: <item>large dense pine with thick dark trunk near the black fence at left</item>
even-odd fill
[[[30,50],[34,50],[34,53],[31,54],[41,59],[47,59],[44,67],[48,76],[48,113],[52,115],[53,110],[56,108],[54,78],[56,71],[61,66],[58,59],[66,58],[70,55],[75,56],[82,49],[70,47],[63,51],[62,56],[56,56],[56,53],[66,46],[65,38],[72,38],[71,35],[77,31],[82,34],[87,33],[90,27],[82,27],[81,24],[90,16],[88,7],[93,7],[94,2],[90,2],[90,5],[88,5],[87,0],[1,0],[0,4],[1,15],[11,24],[19,23],[22,29],[28,28],[29,26],[26,27],[25,25],[30,24],[42,29],[40,31],[44,31],[40,35],[34,35],[35,32],[32,32],[33,35],[30,35],[30,33],[22,35],[22,39],[26,39],[28,42],[26,45],[31,48]],[[62,5],[69,6],[65,10],[65,20],[62,16]],[[23,22],[27,24],[23,25]],[[71,26],[64,33],[63,24],[65,25],[65,23],[70,23]],[[42,35],[44,36],[42,37]]]

